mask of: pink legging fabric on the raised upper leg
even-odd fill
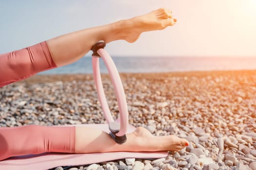
[[[0,87],[56,68],[46,41],[18,51],[0,54]]]

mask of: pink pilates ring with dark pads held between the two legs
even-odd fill
[[[128,108],[127,108],[127,102],[124,94],[123,85],[120,79],[120,76],[118,74],[118,70],[115,66],[115,63],[113,62],[112,58],[108,54],[107,51],[104,50],[104,47],[106,46],[106,43],[104,41],[98,41],[93,47],[92,47],[92,64],[93,64],[93,75],[94,75],[94,81],[96,84],[96,89],[98,92],[98,99],[101,104],[101,108],[103,110],[104,116],[109,124],[109,135],[118,143],[122,144],[126,142],[126,132],[128,129]],[[119,115],[120,115],[120,123],[115,121],[110,113],[106,96],[104,93],[104,89],[102,86],[101,76],[100,76],[100,70],[99,70],[99,57],[102,58],[104,61],[110,78],[111,82],[114,85],[115,95],[117,97],[118,101],[118,108],[119,108]]]

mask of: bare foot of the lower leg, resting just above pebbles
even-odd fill
[[[133,132],[136,145],[141,151],[179,151],[189,145],[186,139],[175,135],[153,136],[147,129],[138,127]]]

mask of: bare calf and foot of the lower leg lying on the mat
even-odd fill
[[[179,151],[188,146],[186,139],[174,135],[153,136],[142,127],[127,134],[127,141],[120,145],[105,132],[78,126],[75,143],[76,153]]]

